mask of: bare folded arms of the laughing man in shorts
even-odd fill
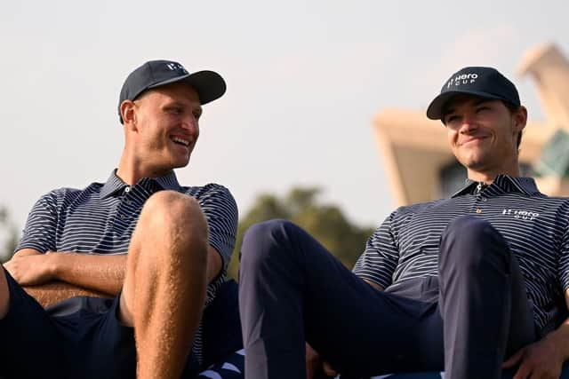
[[[4,267],[44,307],[73,296],[114,297],[123,287],[126,254],[94,255],[20,249]],[[221,257],[208,248],[207,280],[221,271]]]

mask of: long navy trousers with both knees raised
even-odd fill
[[[504,358],[535,339],[517,260],[477,217],[456,218],[439,250],[438,277],[378,291],[300,227],[253,225],[239,283],[245,377],[306,377],[306,341],[342,377],[498,378]]]

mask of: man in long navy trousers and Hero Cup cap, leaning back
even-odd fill
[[[466,67],[427,115],[445,125],[469,181],[450,199],[396,209],[353,272],[290,222],[245,234],[246,378],[313,377],[323,360],[326,373],[349,378],[496,379],[502,367],[516,379],[559,377],[569,358],[569,200],[520,178],[527,111],[516,87],[493,68]]]

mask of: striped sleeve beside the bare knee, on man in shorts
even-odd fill
[[[224,267],[229,263],[235,248],[237,234],[237,204],[224,186],[209,185],[197,199],[209,225],[209,242],[220,252]]]

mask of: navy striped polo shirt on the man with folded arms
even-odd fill
[[[223,261],[222,274],[207,288],[210,304],[226,279],[227,265],[235,246],[237,207],[224,186],[180,186],[173,171],[160,178],[142,178],[129,186],[113,170],[106,183],[92,183],[83,190],[60,188],[42,196],[28,216],[16,247],[42,253],[70,251],[108,255],[126,254],[144,202],[161,190],[192,196],[200,204],[209,227],[209,243]],[[194,352],[201,361],[201,325]]]

